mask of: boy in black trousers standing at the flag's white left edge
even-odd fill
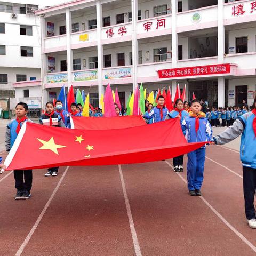
[[[24,102],[20,102],[15,107],[16,119],[13,119],[6,126],[5,133],[5,148],[7,152],[10,152],[14,141],[16,140],[22,125],[25,122],[32,122],[27,118],[28,105]],[[15,188],[17,188],[17,194],[14,197],[15,200],[29,199],[32,187],[32,170],[14,170]]]

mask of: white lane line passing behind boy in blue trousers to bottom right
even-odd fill
[[[165,161],[172,170],[173,166]],[[182,175],[178,172],[176,174],[184,181],[185,184],[187,184],[187,181],[182,177]],[[225,223],[225,225],[230,228],[245,244],[247,244],[254,252],[256,252],[256,247],[249,241],[247,240],[237,229],[235,229],[217,210],[214,209],[214,207],[203,197],[203,196],[198,196],[213,212],[217,217]]]

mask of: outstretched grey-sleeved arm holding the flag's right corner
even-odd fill
[[[229,126],[225,131],[213,137],[217,145],[222,145],[237,138],[244,130],[245,123],[242,118],[236,119],[232,126]]]

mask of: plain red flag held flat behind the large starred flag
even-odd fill
[[[115,117],[70,117],[72,129],[110,130],[145,125],[142,116],[115,116]]]

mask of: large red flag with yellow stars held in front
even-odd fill
[[[152,134],[154,140],[149,140]],[[27,170],[67,165],[144,163],[180,156],[205,143],[187,143],[179,118],[100,132],[26,122],[21,127],[5,165],[6,170]]]

